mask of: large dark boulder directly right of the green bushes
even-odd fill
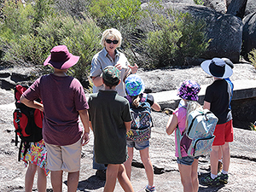
[[[147,3],[142,4],[148,9]],[[240,59],[242,43],[242,21],[234,15],[223,15],[202,5],[185,3],[162,3],[166,9],[175,9],[189,13],[197,19],[206,20],[207,38],[211,39],[207,52],[202,55],[205,59],[213,57],[227,57],[233,62]],[[154,11],[150,9],[150,11]]]

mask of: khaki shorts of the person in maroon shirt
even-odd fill
[[[79,172],[82,144],[58,146],[45,143],[47,149],[47,168],[50,171]]]

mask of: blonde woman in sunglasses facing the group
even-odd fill
[[[125,96],[125,78],[131,73],[137,73],[137,64],[131,67],[129,61],[125,55],[119,50],[118,47],[121,46],[122,36],[117,29],[107,29],[102,33],[101,44],[104,47],[100,52],[94,55],[91,61],[90,67],[90,78],[93,82],[93,93],[103,90],[102,82],[102,71],[105,67],[114,66],[120,71],[121,82],[116,86],[115,90],[118,92],[119,96]],[[107,167],[103,164],[98,164],[95,161],[93,155],[93,169],[96,169],[96,177],[101,179],[106,179],[106,169]]]

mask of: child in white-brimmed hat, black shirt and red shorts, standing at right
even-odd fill
[[[230,100],[232,96],[231,86],[226,78],[229,78],[233,71],[223,59],[213,58],[212,60],[203,61],[202,69],[210,74],[214,81],[207,87],[204,99],[204,108],[209,109],[218,117],[214,135],[215,139],[212,144],[210,154],[211,174],[201,179],[201,184],[218,185],[228,183],[228,171],[230,166],[230,146],[233,142],[233,125],[232,114],[230,109]],[[223,170],[218,174],[218,153],[223,152]]]

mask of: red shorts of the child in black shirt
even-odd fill
[[[232,120],[216,125],[213,135],[215,136],[212,146],[224,145],[226,142],[233,142],[234,131]]]

